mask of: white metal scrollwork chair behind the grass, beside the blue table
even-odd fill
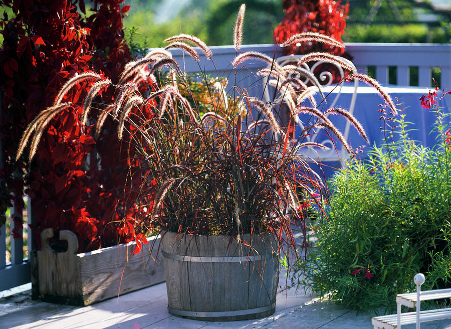
[[[289,64],[293,65],[298,60],[300,60],[303,56],[304,55],[282,56],[276,60],[276,63],[282,67],[284,67],[285,65],[289,65]],[[346,58],[339,57],[339,56],[337,56],[337,58],[339,58],[339,59],[345,61],[347,64],[349,64],[349,66],[351,66],[353,68],[352,73],[357,73],[357,69],[355,68],[354,64],[351,61],[349,61]],[[332,74],[327,71],[320,72],[319,74],[317,74],[317,76],[315,76],[313,74],[313,72],[319,65],[321,65],[323,63],[326,63],[326,62],[323,62],[323,61],[315,62],[312,66],[308,66],[307,63],[302,63],[299,66],[300,69],[298,70],[298,73],[296,73],[296,77],[299,76],[300,80],[303,81],[304,84],[306,84],[306,85],[309,84],[309,82],[313,86],[320,83],[321,91],[323,92],[324,96],[326,97],[325,102],[327,102],[327,105],[325,105],[325,107],[331,108],[331,107],[335,106],[335,104],[337,103],[337,101],[341,95],[343,83],[340,85],[334,85],[332,83],[332,79],[333,79]],[[327,63],[327,64],[331,64],[331,63]],[[343,68],[338,64],[332,64],[332,65],[336,66],[336,68],[340,74],[340,80],[342,80],[345,76],[345,72],[344,72]],[[314,76],[316,78],[317,81],[312,81],[312,79],[309,77],[306,77],[306,74],[303,72],[309,72],[312,76]],[[271,91],[274,92],[275,89],[271,90],[271,84],[268,82],[269,82],[268,76],[265,76],[263,79],[263,83],[264,83],[264,87],[265,87],[264,97],[265,97],[265,101],[272,102],[273,99],[271,99],[270,95],[271,95]],[[279,81],[278,83],[282,83],[282,81]],[[272,85],[274,87],[274,82]],[[349,107],[345,108],[351,114],[354,112],[355,101],[356,101],[356,97],[357,97],[357,87],[358,87],[358,80],[354,79],[354,92],[351,97],[351,102],[349,104]],[[332,91],[333,91],[333,93],[330,93]],[[331,97],[333,97],[332,101],[330,99]],[[327,117],[327,114],[326,114],[326,117]],[[298,121],[297,124],[300,126],[301,129],[303,129],[304,128],[303,123],[300,120],[297,120],[297,121]],[[351,122],[349,120],[346,120],[344,129],[342,127],[338,127],[339,130],[343,133],[343,137],[347,142],[349,142],[348,137],[349,137],[350,127],[351,127]],[[309,136],[306,136],[305,141],[306,142],[317,142],[316,136],[320,129],[323,129],[323,128],[317,128],[315,130],[315,133],[310,134]],[[328,133],[324,132],[322,135],[327,136]],[[344,164],[346,163],[346,161],[349,159],[349,154],[346,151],[346,149],[340,144],[340,142],[336,142],[330,138],[329,139],[326,138],[324,140],[321,140],[320,143],[323,144],[324,146],[327,146],[328,148],[323,149],[323,148],[315,147],[315,148],[303,149],[303,151],[305,150],[305,152],[304,152],[305,155],[314,160],[317,160],[317,161],[340,161],[341,167],[343,167]]]

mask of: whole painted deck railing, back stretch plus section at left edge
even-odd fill
[[[263,97],[263,80],[255,76],[255,72],[262,68],[264,63],[252,60],[246,62],[245,68],[237,70],[237,75],[233,73],[231,61],[236,55],[232,46],[211,47],[213,51],[213,61],[202,59],[199,64],[195,63],[189,56],[183,56],[181,51],[174,51],[175,59],[180,63],[186,72],[199,72],[201,70],[216,76],[227,76],[233,84],[236,79],[237,85],[248,88],[248,92],[254,96]],[[259,51],[270,57],[280,56],[280,48],[275,45],[245,45],[240,52]],[[368,67],[375,67],[375,78],[382,84],[389,81],[389,68],[396,71],[396,84],[408,86],[409,70],[417,70],[418,82],[420,86],[431,87],[431,72],[433,68],[440,68],[441,86],[451,90],[451,45],[435,44],[346,44],[346,51],[353,57],[353,63],[359,72],[365,73]],[[199,51],[200,53],[200,51]],[[216,74],[216,72],[218,74]],[[227,72],[224,74],[224,72]],[[231,73],[232,72],[232,73]],[[231,75],[233,74],[233,75]],[[1,102],[0,102],[1,104]],[[0,108],[1,113],[1,108]],[[1,117],[1,116],[0,116]],[[0,150],[1,141],[0,141]],[[0,169],[3,167],[2,154],[0,152]],[[30,205],[30,203],[28,203]],[[30,207],[28,207],[30,209]],[[29,212],[28,218],[31,218]],[[10,221],[10,218],[7,218]],[[30,281],[30,265],[28,260],[23,259],[22,239],[11,239],[12,261],[5,262],[6,253],[6,232],[5,225],[0,228],[0,291],[14,287]],[[29,244],[32,243],[31,232],[29,230]],[[30,248],[31,250],[31,248]]]

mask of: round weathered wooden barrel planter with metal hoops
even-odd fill
[[[165,232],[162,254],[168,310],[175,316],[232,321],[269,316],[279,282],[277,241],[269,234],[243,237]]]

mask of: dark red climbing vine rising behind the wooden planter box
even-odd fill
[[[74,106],[51,121],[38,147],[37,160],[30,167],[25,158],[14,160],[27,123],[53,103],[70,77],[94,69],[112,81],[117,79],[130,59],[122,27],[130,6],[121,7],[122,2],[95,1],[93,14],[82,17],[78,9],[86,14],[83,0],[0,1],[15,14],[11,19],[5,14],[0,21],[4,37],[0,48],[4,94],[0,116],[0,214],[11,206],[11,201],[16,211],[22,212],[27,177],[38,246],[39,232],[48,227],[57,232],[75,232],[79,252],[139,239],[127,226],[112,224],[124,217],[133,219],[124,213],[125,209],[136,211],[133,195],[124,190],[133,154],[129,154],[126,141],[118,142],[112,120],[105,120],[102,131],[93,138],[93,123],[101,111],[93,111],[91,125],[80,122],[83,108],[75,103],[80,104],[84,98],[86,82],[66,95],[63,101]],[[95,100],[108,104],[112,99],[112,91],[106,90]],[[17,235],[22,224],[19,218],[13,219],[17,224],[13,234]]]

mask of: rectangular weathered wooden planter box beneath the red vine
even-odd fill
[[[160,237],[152,255],[143,248],[133,255],[135,242],[77,254],[78,240],[71,231],[61,231],[66,252],[49,246],[53,229],[41,233],[41,249],[32,253],[32,298],[70,305],[89,305],[164,281],[163,258],[158,254]],[[154,241],[155,240],[155,241]]]

